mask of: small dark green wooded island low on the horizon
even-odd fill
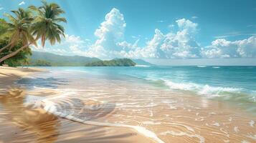
[[[135,66],[136,63],[131,59],[112,59],[110,61],[93,61],[85,66]]]

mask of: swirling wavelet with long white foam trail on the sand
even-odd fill
[[[158,143],[163,141],[154,132],[141,126],[129,124],[119,124],[110,122],[97,122],[95,119],[105,117],[115,109],[115,104],[99,102],[95,99],[81,99],[75,96],[70,97],[69,93],[61,94],[57,97],[42,99],[34,103],[34,106],[43,107],[47,112],[58,117],[70,119],[83,124],[90,124],[102,127],[123,127],[133,129],[143,136],[153,139]]]

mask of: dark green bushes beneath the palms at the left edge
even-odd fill
[[[7,39],[0,39],[0,47],[4,47],[8,44],[9,40]],[[16,45],[13,46],[12,50],[16,50],[22,47],[22,41],[18,41]],[[0,48],[1,49],[1,48]],[[7,54],[10,54],[12,51],[9,51],[9,49],[4,49],[0,53],[0,56],[6,56]],[[1,64],[8,64],[9,66],[24,66],[28,64],[28,58],[27,56],[31,55],[32,51],[30,48],[26,48],[22,51],[20,51],[18,54],[15,56],[12,56],[10,59],[6,59],[3,63]]]

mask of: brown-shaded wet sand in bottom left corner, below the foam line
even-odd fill
[[[81,124],[27,106],[18,89],[1,95],[0,104],[1,142],[151,142],[131,129]]]

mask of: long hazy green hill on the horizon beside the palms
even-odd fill
[[[86,56],[62,56],[40,51],[32,51],[32,56],[30,57],[31,66],[42,66],[45,65],[44,63],[51,66],[85,66],[85,64],[93,61],[101,60]]]

